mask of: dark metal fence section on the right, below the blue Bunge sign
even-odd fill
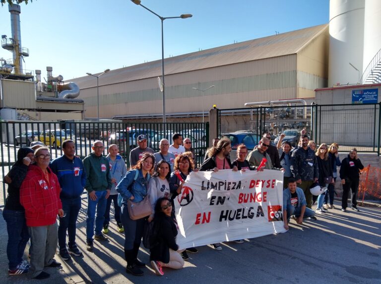
[[[341,150],[356,147],[380,155],[380,104],[272,106],[219,110],[219,133],[235,148],[245,143],[252,148],[263,133],[274,142],[280,133],[294,145],[305,129],[317,144],[336,142]]]

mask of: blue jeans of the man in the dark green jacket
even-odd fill
[[[94,219],[95,219],[95,234],[101,235],[103,228],[103,220],[105,219],[106,210],[106,194],[107,191],[96,191],[97,200],[91,200],[87,194],[87,219],[86,219],[86,240],[93,241],[94,236]],[[97,216],[95,217],[95,209]]]

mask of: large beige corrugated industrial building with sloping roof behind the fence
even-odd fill
[[[165,59],[167,118],[200,121],[218,108],[247,102],[315,97],[327,86],[328,25],[318,25]],[[101,118],[162,117],[158,86],[161,61],[112,70],[99,78]],[[85,102],[85,118],[96,117],[97,80],[72,79]],[[211,88],[205,92],[192,89]],[[202,96],[204,95],[204,98]]]

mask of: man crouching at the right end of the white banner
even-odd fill
[[[303,190],[296,186],[295,179],[289,178],[288,188],[283,191],[283,220],[286,230],[288,230],[288,222],[292,215],[298,224],[302,224],[305,218],[315,216],[315,212],[306,205]]]

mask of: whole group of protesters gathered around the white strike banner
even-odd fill
[[[62,143],[64,155],[52,161],[49,148],[43,145],[36,145],[35,149],[21,147],[17,161],[4,178],[8,183],[8,197],[3,211],[8,230],[8,274],[30,272],[32,278],[48,278],[44,267],[61,265],[54,260],[57,244],[59,254],[65,261],[70,260],[71,256],[82,255],[75,237],[84,189],[88,195],[86,250],[94,250],[94,239],[108,240],[106,235],[109,233],[113,203],[117,229],[125,235],[126,272],[135,276],[143,275],[141,268],[145,263],[138,259],[138,252],[147,227],[150,228],[150,264],[157,275],[164,275],[163,267],[181,269],[184,261],[189,259],[188,253],[197,253],[193,247],[179,251],[173,202],[192,171],[261,170],[258,166],[265,158],[265,169],[282,170],[284,173],[284,227],[288,229],[290,218],[297,223],[302,223],[307,217],[316,219],[312,211],[312,193],[317,186],[323,193],[316,195],[316,213],[333,208],[336,167],[341,165],[339,174],[344,190],[342,211],[345,212],[348,206],[349,190],[352,190],[351,208],[359,211],[356,193],[359,170],[363,165],[355,148],[340,161],[337,143],[332,143],[329,148],[322,143],[315,152],[316,144],[309,144],[305,134],[302,134],[300,144],[295,148],[282,139],[281,136],[280,143],[275,146],[266,133],[250,153],[241,144],[237,148],[237,158],[231,162],[230,140],[215,138],[203,163],[197,168],[189,138],[183,141],[182,135],[176,133],[171,145],[168,140],[162,139],[159,152],[154,153],[147,147],[147,137],[140,135],[138,146],[130,151],[131,167],[128,171],[116,144],[109,145],[108,155],[104,156],[103,142],[95,141],[92,152],[83,162],[75,156],[72,140]],[[328,194],[324,188],[328,188]],[[131,204],[143,202],[149,204],[150,213],[136,217],[130,212]],[[22,259],[29,239],[30,264]],[[235,242],[243,243],[243,240]],[[216,250],[222,249],[219,243],[212,246]]]

